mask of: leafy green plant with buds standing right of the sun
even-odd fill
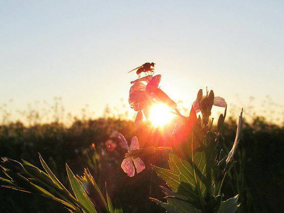
[[[210,94],[213,97],[209,96],[209,98],[214,99],[212,91]],[[200,100],[198,101],[200,102]],[[213,102],[211,103],[211,107],[212,104]],[[205,107],[206,109],[210,108],[207,105]],[[202,108],[201,113],[204,117],[210,115],[208,111],[203,113]],[[225,116],[220,116],[217,131],[221,130],[224,118]],[[203,119],[203,123],[200,123],[200,120],[196,118],[195,112],[192,109],[185,126],[185,129],[188,130],[188,132],[185,132],[186,140],[183,142],[185,143],[186,154],[181,155],[181,157],[174,154],[170,155],[170,169],[153,166],[158,176],[165,180],[175,195],[169,196],[166,193],[167,203],[156,199],[152,200],[171,213],[186,211],[235,212],[237,210],[237,197],[233,200],[221,202],[222,196],[220,195],[220,190],[227,172],[234,164],[232,157],[236,152],[240,139],[242,112],[239,117],[235,142],[228,157],[226,157],[226,162],[225,158],[218,159],[216,156],[216,147],[220,132],[212,133],[207,123],[208,118]],[[180,199],[179,195],[186,197],[186,199]],[[235,201],[234,207],[232,204],[233,201]]]

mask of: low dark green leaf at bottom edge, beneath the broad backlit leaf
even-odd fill
[[[150,199],[159,204],[161,207],[165,208],[170,213],[201,213],[201,210],[196,209],[192,204],[172,197],[167,197],[168,203],[163,203],[154,198]]]

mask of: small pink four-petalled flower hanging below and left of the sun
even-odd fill
[[[121,163],[121,168],[129,177],[133,177],[135,174],[134,165],[136,168],[136,172],[139,173],[145,169],[145,164],[140,158],[133,158],[130,154],[132,150],[138,150],[139,143],[136,136],[134,136],[131,140],[130,147],[127,144],[127,141],[123,137],[123,135],[119,134],[118,138],[123,142],[124,147],[127,149],[128,153],[126,154],[126,158]],[[133,162],[132,162],[133,161]],[[134,165],[133,165],[134,163]]]

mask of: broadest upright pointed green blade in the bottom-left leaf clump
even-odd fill
[[[69,166],[66,164],[66,171],[68,174],[68,178],[72,187],[72,190],[75,194],[76,199],[82,204],[82,209],[85,213],[93,213],[96,212],[94,204],[90,201],[89,197],[87,196],[84,188],[80,185],[78,179],[74,176]]]

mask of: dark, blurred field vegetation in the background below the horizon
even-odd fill
[[[167,166],[167,155],[143,159],[145,171],[127,177],[120,168],[125,150],[118,133],[128,141],[136,135],[140,147],[167,143],[158,129],[115,118],[77,120],[70,127],[58,122],[26,127],[21,122],[0,126],[0,157],[24,159],[41,167],[42,155],[54,174],[68,186],[65,163],[74,174],[82,175],[88,167],[100,188],[107,182],[109,194],[117,196],[124,212],[165,212],[149,197],[163,198],[157,185],[165,185],[156,177],[150,164]],[[236,135],[236,121],[227,119],[222,141],[228,150]],[[282,212],[284,209],[284,128],[269,124],[262,118],[244,123],[236,165],[230,171],[222,191],[228,198],[239,194],[238,212]],[[228,152],[227,152],[228,153]],[[4,177],[4,174],[0,174]],[[5,183],[1,181],[1,185]],[[70,186],[69,186],[70,187]],[[60,204],[9,188],[0,188],[0,212],[68,212]]]

